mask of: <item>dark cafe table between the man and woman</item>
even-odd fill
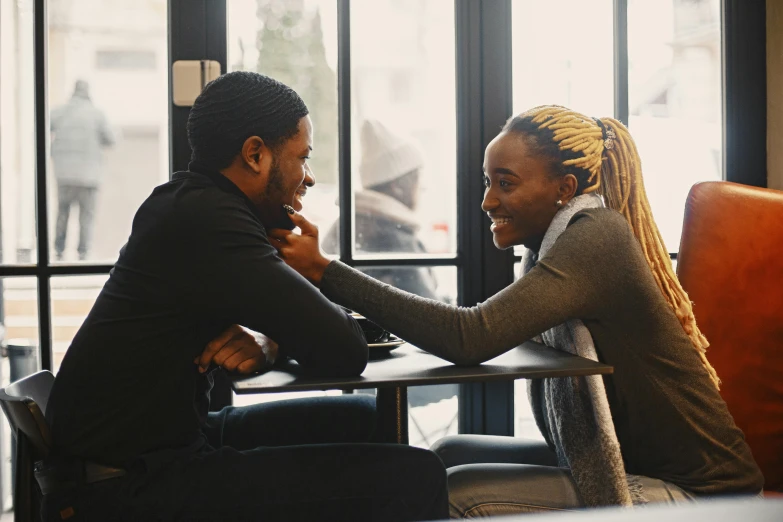
[[[528,341],[478,366],[455,366],[405,344],[371,360],[358,377],[310,377],[294,362],[251,377],[234,377],[238,394],[377,388],[381,440],[408,443],[408,386],[610,374],[609,365]]]

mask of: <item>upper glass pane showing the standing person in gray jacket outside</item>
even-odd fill
[[[169,179],[166,0],[50,0],[55,261],[113,262]]]

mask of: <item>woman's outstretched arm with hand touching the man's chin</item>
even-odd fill
[[[594,316],[608,284],[601,274],[613,257],[602,255],[611,231],[585,216],[527,275],[483,303],[456,307],[403,292],[339,261],[328,262],[317,249],[317,228],[299,214],[292,219],[302,235],[275,231],[273,244],[326,297],[461,365],[492,359],[567,319]]]

